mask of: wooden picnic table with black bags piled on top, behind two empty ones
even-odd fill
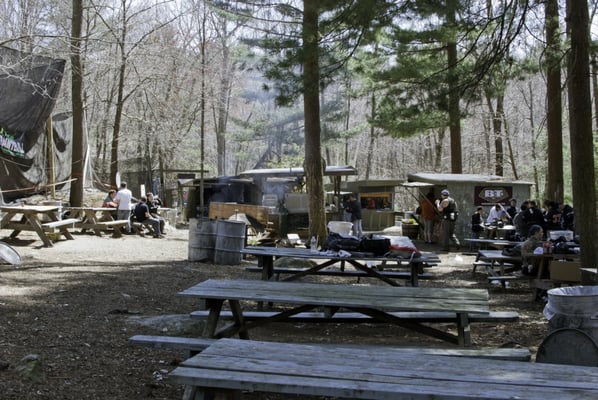
[[[275,273],[282,271],[291,274],[284,279],[285,281],[297,280],[307,275],[317,274],[334,274],[337,276],[347,277],[357,275],[377,278],[391,286],[400,286],[396,279],[393,279],[393,275],[394,277],[401,277],[400,274],[383,272],[383,270],[391,263],[396,263],[399,266],[409,268],[407,280],[411,286],[418,286],[419,278],[426,277],[423,275],[423,267],[436,265],[436,263],[439,262],[438,257],[433,253],[423,253],[419,256],[417,256],[415,253],[411,253],[410,257],[376,257],[373,255],[364,254],[360,254],[358,256],[353,254],[349,256],[342,256],[339,254],[339,252],[335,251],[312,252],[310,249],[304,248],[268,246],[247,246],[241,250],[241,253],[250,254],[257,257],[257,268],[261,269],[263,280],[269,280]],[[274,268],[274,259],[280,257],[305,258],[318,260],[321,262],[311,268],[294,270],[286,269],[277,271]],[[375,263],[380,264],[374,266]],[[340,264],[340,268],[327,269],[334,264]],[[354,271],[347,271],[345,269],[345,264],[350,264],[353,266],[358,273],[356,274]],[[370,266],[370,264],[372,265]]]

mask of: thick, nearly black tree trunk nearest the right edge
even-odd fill
[[[596,177],[590,98],[589,16],[586,1],[567,0],[567,30],[571,41],[568,65],[569,130],[575,230],[581,264],[596,268]]]

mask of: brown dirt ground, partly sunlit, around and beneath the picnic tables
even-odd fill
[[[2,230],[0,237],[19,252],[22,264],[0,264],[0,397],[7,400],[180,399],[182,388],[170,382],[167,374],[184,354],[130,345],[128,338],[135,334],[170,333],[132,323],[132,318],[197,309],[197,304],[177,292],[207,278],[258,278],[244,268],[255,260],[235,266],[187,261],[185,229],[170,228],[164,239],[76,233],[75,240],[61,240],[52,248],[40,247],[41,241],[29,233],[6,240],[9,233]],[[422,250],[435,250],[433,245],[416,244]],[[474,345],[524,346],[535,354],[547,334],[547,321],[542,315],[544,305],[532,301],[527,284],[512,283],[504,290],[489,285],[485,273],[472,274],[472,255],[448,253],[441,258],[440,266],[428,269],[436,279],[422,281],[422,286],[488,288],[492,310],[520,313],[515,323],[475,324]],[[369,279],[361,283],[383,284]],[[276,324],[257,330],[252,338],[443,345],[382,324]],[[41,360],[37,382],[15,370],[19,360],[30,354]],[[255,393],[244,398],[282,399]]]

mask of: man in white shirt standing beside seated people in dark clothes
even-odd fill
[[[119,190],[111,189],[106,199],[104,199],[103,207],[116,208],[116,219],[127,220],[127,233],[131,233],[131,204],[133,202],[133,193],[127,188],[126,182],[121,182]],[[164,218],[158,214],[158,207],[162,202],[153,193],[148,192],[145,196],[141,196],[139,201],[133,208],[133,216],[137,222],[144,225],[149,225],[152,229],[155,238],[162,238],[165,232]]]

